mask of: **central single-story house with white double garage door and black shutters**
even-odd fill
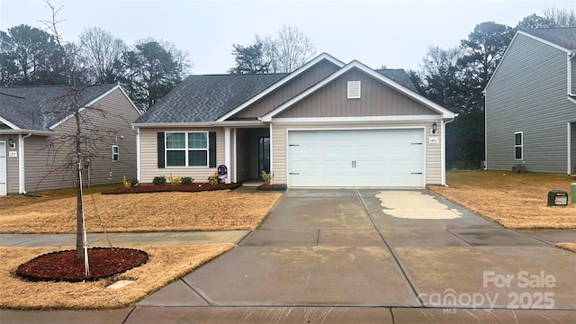
[[[446,182],[454,118],[404,70],[324,53],[290,74],[188,76],[133,126],[143,183],[225,165],[235,183],[266,170],[290,187],[424,187]]]

